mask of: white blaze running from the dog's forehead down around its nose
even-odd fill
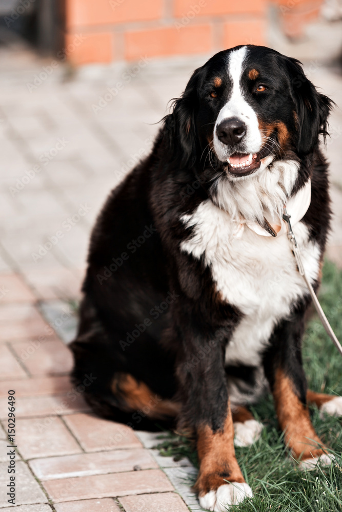
[[[248,55],[248,48],[243,46],[234,50],[229,55],[228,75],[232,83],[230,98],[220,110],[214,128],[214,148],[220,160],[227,158],[234,153],[234,150],[220,142],[216,135],[216,128],[222,121],[236,117],[246,124],[246,135],[243,138],[244,153],[258,153],[261,148],[261,134],[259,132],[258,119],[255,111],[247,103],[241,85],[241,77],[245,70],[245,61]],[[247,92],[247,91],[246,91]]]

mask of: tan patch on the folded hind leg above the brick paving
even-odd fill
[[[152,419],[175,417],[180,411],[180,403],[163,399],[153,393],[145,382],[138,382],[129,373],[116,374],[112,382],[112,392],[123,401],[125,410],[142,410]]]

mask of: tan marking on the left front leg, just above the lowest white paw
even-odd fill
[[[199,496],[229,482],[245,482],[234,450],[233,419],[228,404],[222,431],[213,432],[208,425],[197,429],[197,452],[200,462],[195,488]]]

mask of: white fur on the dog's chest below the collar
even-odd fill
[[[236,222],[210,199],[182,221],[193,226],[194,234],[180,248],[197,259],[204,254],[217,291],[244,313],[227,347],[227,363],[258,365],[276,323],[308,293],[286,235],[263,237],[246,228],[242,238],[236,238]],[[313,281],[319,271],[319,247],[308,241],[304,223],[296,224],[293,231]]]

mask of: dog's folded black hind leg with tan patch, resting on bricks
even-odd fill
[[[163,391],[155,393],[153,386],[144,382],[144,376],[136,377],[136,365],[125,357],[117,341],[119,338],[120,335],[108,333],[86,298],[81,305],[79,332],[70,344],[74,356],[74,385],[83,386],[86,401],[99,416],[126,423],[133,429],[170,427],[179,406],[163,397]],[[130,350],[132,358],[134,347]],[[143,364],[142,358],[140,361]]]

